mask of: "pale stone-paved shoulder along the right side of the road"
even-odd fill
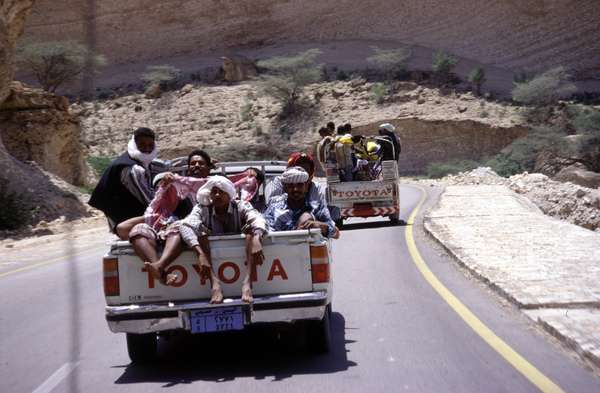
[[[504,186],[450,186],[424,227],[460,265],[600,366],[600,234]]]

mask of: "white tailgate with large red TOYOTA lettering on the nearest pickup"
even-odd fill
[[[260,296],[312,291],[309,239],[306,231],[265,238],[265,261],[252,275],[253,293]],[[107,297],[109,305],[210,298],[210,281],[200,278],[192,251],[185,251],[167,269],[178,275],[172,286],[153,279],[130,248],[121,248],[119,254],[120,292],[118,297]],[[225,297],[239,298],[246,272],[244,239],[239,235],[212,237],[211,254]]]

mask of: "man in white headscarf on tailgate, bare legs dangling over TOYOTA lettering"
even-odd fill
[[[262,215],[248,202],[236,200],[236,189],[231,180],[223,176],[211,176],[198,190],[198,204],[189,216],[180,222],[180,236],[173,237],[163,255],[155,264],[147,264],[155,277],[171,263],[182,250],[185,242],[198,255],[200,274],[211,282],[211,303],[223,302],[223,291],[218,276],[212,266],[208,236],[246,234],[246,275],[242,283],[242,301],[252,302],[252,282],[250,273],[254,265],[264,259],[262,236],[267,226]]]

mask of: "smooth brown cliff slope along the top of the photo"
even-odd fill
[[[39,0],[26,39],[83,37],[82,0]],[[112,63],[239,46],[380,40],[486,65],[563,65],[600,77],[597,0],[96,0],[97,45]]]

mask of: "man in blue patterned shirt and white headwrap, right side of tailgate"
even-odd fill
[[[324,236],[339,238],[340,232],[331,219],[327,205],[308,194],[308,173],[291,167],[281,176],[284,194],[272,198],[265,220],[273,231],[319,228]]]

